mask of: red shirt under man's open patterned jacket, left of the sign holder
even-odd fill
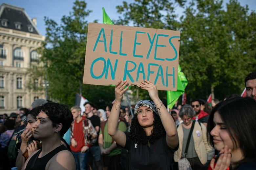
[[[76,121],[74,122],[73,134],[77,145],[76,147],[70,145],[70,148],[73,152],[81,152],[82,147],[85,146],[83,133],[83,120],[85,119],[85,117],[82,117],[82,119],[78,123]]]

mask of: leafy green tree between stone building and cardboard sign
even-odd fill
[[[84,1],[75,1],[72,12],[63,16],[58,25],[45,17],[46,39],[41,51],[41,62],[49,81],[50,99],[67,104],[75,104],[75,93],[82,93],[99,107],[115,99],[113,87],[84,85],[84,59],[88,22],[91,10]],[[96,22],[96,21],[95,21]],[[43,77],[45,79],[45,77]],[[111,89],[111,90],[110,90]]]

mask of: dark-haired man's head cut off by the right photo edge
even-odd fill
[[[245,77],[245,88],[247,97],[256,100],[256,71],[251,72]]]

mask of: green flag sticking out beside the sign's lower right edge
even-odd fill
[[[188,81],[181,71],[180,65],[178,66],[178,76],[177,76],[177,91],[167,91],[167,105],[171,109],[179,97],[185,92],[185,88],[188,84]]]

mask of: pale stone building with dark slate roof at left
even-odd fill
[[[38,65],[36,49],[44,39],[36,28],[36,18],[31,20],[23,8],[0,6],[0,114],[30,108],[35,99],[45,98],[44,92],[26,88],[28,69]],[[33,81],[38,87],[38,79]]]

